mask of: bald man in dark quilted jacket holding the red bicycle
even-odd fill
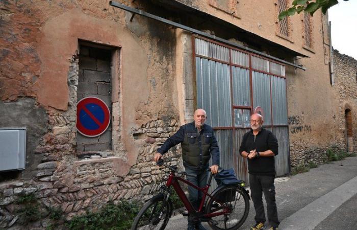
[[[187,180],[202,188],[206,186],[208,179],[209,160],[212,155],[211,171],[218,172],[219,167],[219,147],[211,126],[206,125],[206,111],[197,109],[194,112],[194,122],[183,125],[180,129],[169,137],[165,143],[157,150],[154,160],[157,162],[164,153],[171,147],[180,144],[182,148],[182,158],[185,171],[196,176],[186,175]],[[189,200],[195,209],[198,209],[202,193],[188,187]],[[201,223],[193,222],[189,218],[188,230],[205,229]]]

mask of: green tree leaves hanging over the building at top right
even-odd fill
[[[313,16],[313,14],[320,8],[322,13],[326,14],[327,9],[329,9],[331,6],[335,6],[338,3],[338,0],[294,0],[292,6],[289,9],[281,12],[278,18],[279,20],[282,20],[284,17],[292,16],[295,13],[299,14],[302,11],[310,13],[310,15]]]

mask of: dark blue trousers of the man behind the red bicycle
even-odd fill
[[[198,186],[199,188],[205,187],[207,184],[208,180],[208,172],[206,171],[207,168],[203,169],[192,169],[189,167],[185,167],[185,171],[189,174],[196,175],[196,176],[190,176],[186,175],[186,179],[193,183],[193,185]],[[199,208],[199,204],[201,202],[203,193],[198,191],[197,189],[188,186],[188,199],[191,202],[193,208],[196,210]],[[188,218],[189,222],[194,222],[191,221],[191,218]]]

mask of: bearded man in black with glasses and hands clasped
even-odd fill
[[[239,148],[241,156],[248,159],[248,172],[251,198],[256,210],[256,224],[251,230],[264,229],[265,213],[262,195],[267,202],[270,229],[279,225],[275,203],[275,165],[274,156],[278,154],[276,137],[269,130],[263,129],[263,117],[254,113],[250,117],[251,130],[244,134]]]

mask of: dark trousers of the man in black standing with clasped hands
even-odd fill
[[[269,224],[272,227],[279,225],[276,203],[275,203],[275,187],[274,175],[252,175],[249,174],[250,196],[253,200],[254,209],[256,210],[256,222],[265,222],[265,213],[263,205],[263,193],[267,202],[267,213]]]

